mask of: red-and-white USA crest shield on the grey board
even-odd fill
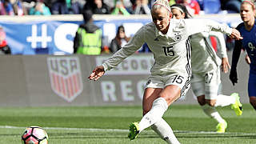
[[[79,59],[76,57],[47,58],[50,85],[55,94],[72,102],[82,93],[82,77]]]

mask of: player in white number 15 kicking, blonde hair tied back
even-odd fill
[[[153,22],[142,26],[130,42],[102,64],[96,66],[90,80],[98,80],[106,72],[134,54],[143,43],[147,43],[154,54],[154,66],[146,82],[142,107],[143,117],[130,125],[130,140],[137,138],[142,130],[151,126],[167,143],[178,144],[173,131],[162,115],[175,100],[186,94],[190,88],[190,38],[191,34],[218,30],[231,38],[241,38],[238,30],[210,20],[171,19],[167,0],[157,0],[151,8]]]

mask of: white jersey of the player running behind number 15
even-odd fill
[[[202,32],[190,37],[192,47],[192,73],[206,73],[216,69],[221,65],[222,60],[218,58],[214,47],[211,45],[209,36],[214,36],[218,40],[220,54],[226,58],[226,43],[222,33],[211,31]]]

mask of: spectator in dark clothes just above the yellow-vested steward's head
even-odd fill
[[[103,0],[87,0],[83,10],[91,10],[93,14],[110,14],[110,6]]]

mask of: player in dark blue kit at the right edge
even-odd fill
[[[253,2],[243,1],[240,9],[242,23],[236,28],[243,36],[242,40],[235,41],[234,51],[232,55],[232,65],[230,70],[230,80],[233,83],[238,82],[237,65],[242,49],[245,49],[250,58],[250,74],[248,81],[248,94],[250,104],[256,110],[256,22],[255,22],[255,6]],[[248,60],[247,60],[248,62]]]

